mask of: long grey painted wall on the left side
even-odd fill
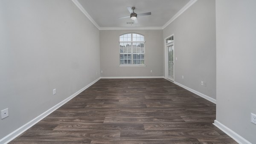
[[[0,139],[99,72],[99,30],[71,0],[0,0]]]

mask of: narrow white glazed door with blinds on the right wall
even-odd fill
[[[168,75],[167,78],[174,81],[174,63],[173,63],[173,43],[170,43],[167,47],[167,64],[168,64]]]

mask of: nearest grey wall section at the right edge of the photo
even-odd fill
[[[256,144],[256,1],[216,0],[216,120]]]

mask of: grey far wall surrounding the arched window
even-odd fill
[[[146,66],[119,66],[119,36],[131,32],[145,37]],[[99,33],[102,77],[163,76],[162,30],[100,30]]]

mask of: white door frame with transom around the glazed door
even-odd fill
[[[168,78],[168,52],[167,52],[167,46],[169,46],[171,43],[166,43],[166,39],[173,36],[173,80]],[[165,78],[170,81],[175,81],[175,45],[174,45],[174,34],[166,37],[164,39],[164,65],[165,65]]]

